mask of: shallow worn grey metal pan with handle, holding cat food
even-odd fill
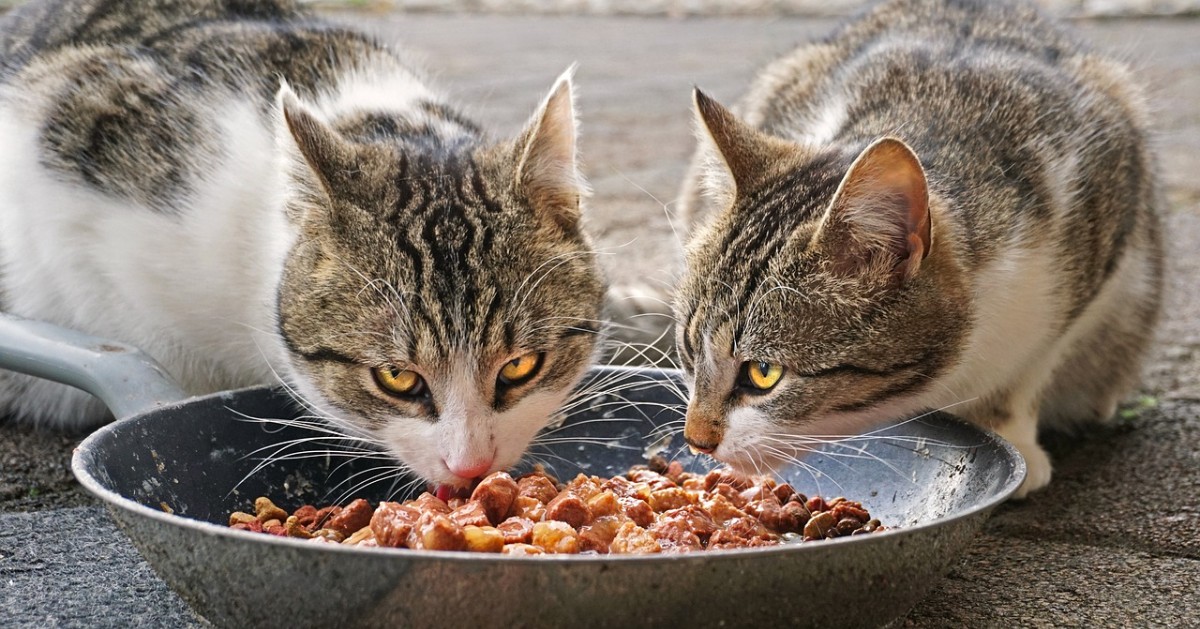
[[[322,456],[256,471],[274,444],[314,436],[247,419],[295,417],[280,390],[170,400],[181,397],[178,389],[133,348],[7,316],[0,316],[0,367],[80,387],[122,418],[84,441],[74,473],[158,575],[222,627],[878,625],[925,595],[1025,474],[1009,444],[934,413],[870,439],[827,445],[804,461],[810,471],[780,474],[809,495],[860,499],[895,527],[882,533],[625,557],[318,545],[232,531],[224,522],[257,496],[284,508],[336,498],[388,463]],[[533,454],[564,479],[643,462],[648,436],[678,418],[670,408],[680,403],[676,377],[593,370],[589,379],[638,384],[622,393],[622,403],[571,413],[556,433],[588,443],[558,442]],[[668,444],[670,451],[678,445]],[[713,466],[682,459],[697,471]],[[395,487],[373,484],[355,495],[374,502]]]

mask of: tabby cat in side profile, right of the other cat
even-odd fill
[[[1162,200],[1130,71],[1028,2],[894,0],[695,94],[676,295],[685,437],[756,468],[949,408],[1025,456],[1104,420],[1159,312]],[[707,194],[703,194],[707,192]]]

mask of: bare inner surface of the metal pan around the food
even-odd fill
[[[718,465],[690,455],[679,435],[668,436],[666,424],[683,408],[673,373],[594,370],[583,387],[600,383],[620,394],[598,395],[550,429],[553,441],[535,444],[524,469],[541,462],[560,479],[613,475],[655,453],[696,472]],[[102,429],[80,447],[77,469],[142,505],[218,525],[234,510],[252,510],[258,496],[290,510],[424,491],[424,484],[397,475],[391,461],[305,427],[311,421],[302,415],[277,389],[197,399]],[[994,504],[1022,474],[1012,447],[932,413],[823,444],[776,477],[810,496],[862,501],[886,525],[912,527]]]

